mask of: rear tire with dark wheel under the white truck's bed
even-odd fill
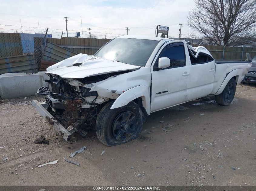
[[[219,95],[215,95],[215,101],[216,103],[220,105],[227,106],[229,105],[232,100],[234,99],[236,91],[236,82],[234,78],[231,78],[224,88],[224,90]]]

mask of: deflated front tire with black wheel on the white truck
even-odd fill
[[[137,138],[143,123],[138,104],[131,101],[123,107],[110,109],[113,102],[108,102],[101,109],[96,120],[97,137],[107,146],[120,145]]]

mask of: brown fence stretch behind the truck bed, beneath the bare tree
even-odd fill
[[[192,46],[197,47],[198,44]],[[224,48],[224,60],[245,60],[245,53],[250,53],[251,57],[256,56],[256,48],[253,47],[232,47],[232,46],[215,46],[215,45],[200,45],[207,48],[214,59],[220,60],[223,57]]]

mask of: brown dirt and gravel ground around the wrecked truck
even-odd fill
[[[2,186],[256,185],[256,85],[239,84],[226,107],[204,97],[152,113],[139,138],[113,147],[102,145],[95,130],[66,142],[31,106],[34,99],[44,100],[31,96],[0,103]],[[50,145],[35,144],[40,135]]]

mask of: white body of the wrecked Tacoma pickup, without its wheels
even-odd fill
[[[104,51],[111,45],[111,40],[95,56],[78,54],[50,66],[47,68],[46,74],[51,79],[55,78],[55,80],[68,83],[77,92],[77,98],[81,100],[77,107],[83,110],[95,107],[97,104],[104,105],[110,100],[113,101],[110,107],[113,110],[140,98],[141,109],[150,115],[152,112],[200,97],[211,94],[219,95],[231,78],[234,78],[236,84],[240,83],[251,67],[250,62],[215,61],[203,46],[194,48],[188,45],[185,40],[129,35],[114,40],[117,41],[118,39],[150,40],[150,42],[156,42],[156,45],[145,65],[132,65],[122,63],[119,60],[112,60],[111,58],[116,55],[113,56],[109,52],[107,56],[110,59],[98,57],[97,55],[101,53],[101,50]],[[114,40],[113,42],[115,42]],[[184,51],[181,53],[181,57],[182,54],[185,54],[184,59],[171,60],[171,64],[175,63],[178,66],[158,68],[158,62],[166,62],[166,58],[159,58],[162,58],[161,55],[164,55],[168,49]],[[129,51],[127,52],[129,54]],[[133,59],[140,60],[140,58]],[[193,63],[191,63],[191,59]],[[204,62],[200,62],[200,59]],[[168,62],[167,59],[167,64]],[[106,76],[104,77],[104,75]],[[104,79],[100,77],[99,80],[95,80],[98,78],[97,76],[103,76]],[[55,81],[56,83],[58,82]],[[51,105],[48,107],[55,110],[56,105],[65,104],[66,101],[56,99],[54,95],[51,95],[53,91],[50,82],[49,84],[49,89],[44,93],[47,100],[51,101]],[[96,94],[82,96],[81,87],[88,88],[88,92],[97,92],[97,96]],[[42,94],[42,92],[39,91],[38,94]],[[59,92],[60,94],[63,93]],[[73,97],[75,99],[76,96],[73,95]]]

